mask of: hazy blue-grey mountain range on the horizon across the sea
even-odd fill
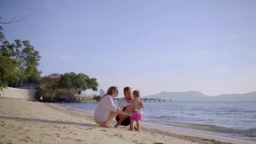
[[[162,91],[158,94],[144,96],[141,98],[171,99],[172,101],[256,101],[256,91],[244,94],[222,94],[219,96],[206,96],[199,91]]]

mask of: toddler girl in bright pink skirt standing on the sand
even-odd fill
[[[130,117],[131,120],[131,129],[130,131],[134,131],[134,121],[136,121],[137,129],[135,131],[140,130],[140,123],[139,121],[141,120],[141,108],[144,108],[144,104],[141,100],[139,100],[140,97],[140,92],[138,90],[133,91],[133,100],[131,101],[131,110],[133,113],[136,113],[134,117]]]

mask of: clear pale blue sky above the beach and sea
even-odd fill
[[[40,51],[43,76],[82,72],[119,97],[256,91],[256,0],[0,1],[2,21],[29,14],[1,26]]]

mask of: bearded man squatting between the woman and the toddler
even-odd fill
[[[117,106],[119,106],[120,110],[122,110],[124,112],[131,112],[131,111],[126,110],[130,106],[131,99],[132,99],[132,96],[133,96],[131,88],[130,87],[125,87],[123,89],[123,92],[124,92],[125,97],[119,99],[119,101],[117,103]],[[116,128],[118,128],[120,125],[128,126],[128,125],[131,124],[130,117],[126,116],[126,115],[120,115],[119,114],[119,115],[117,115],[116,120],[117,120],[117,124],[115,125]],[[130,128],[131,128],[131,125],[130,125]]]

